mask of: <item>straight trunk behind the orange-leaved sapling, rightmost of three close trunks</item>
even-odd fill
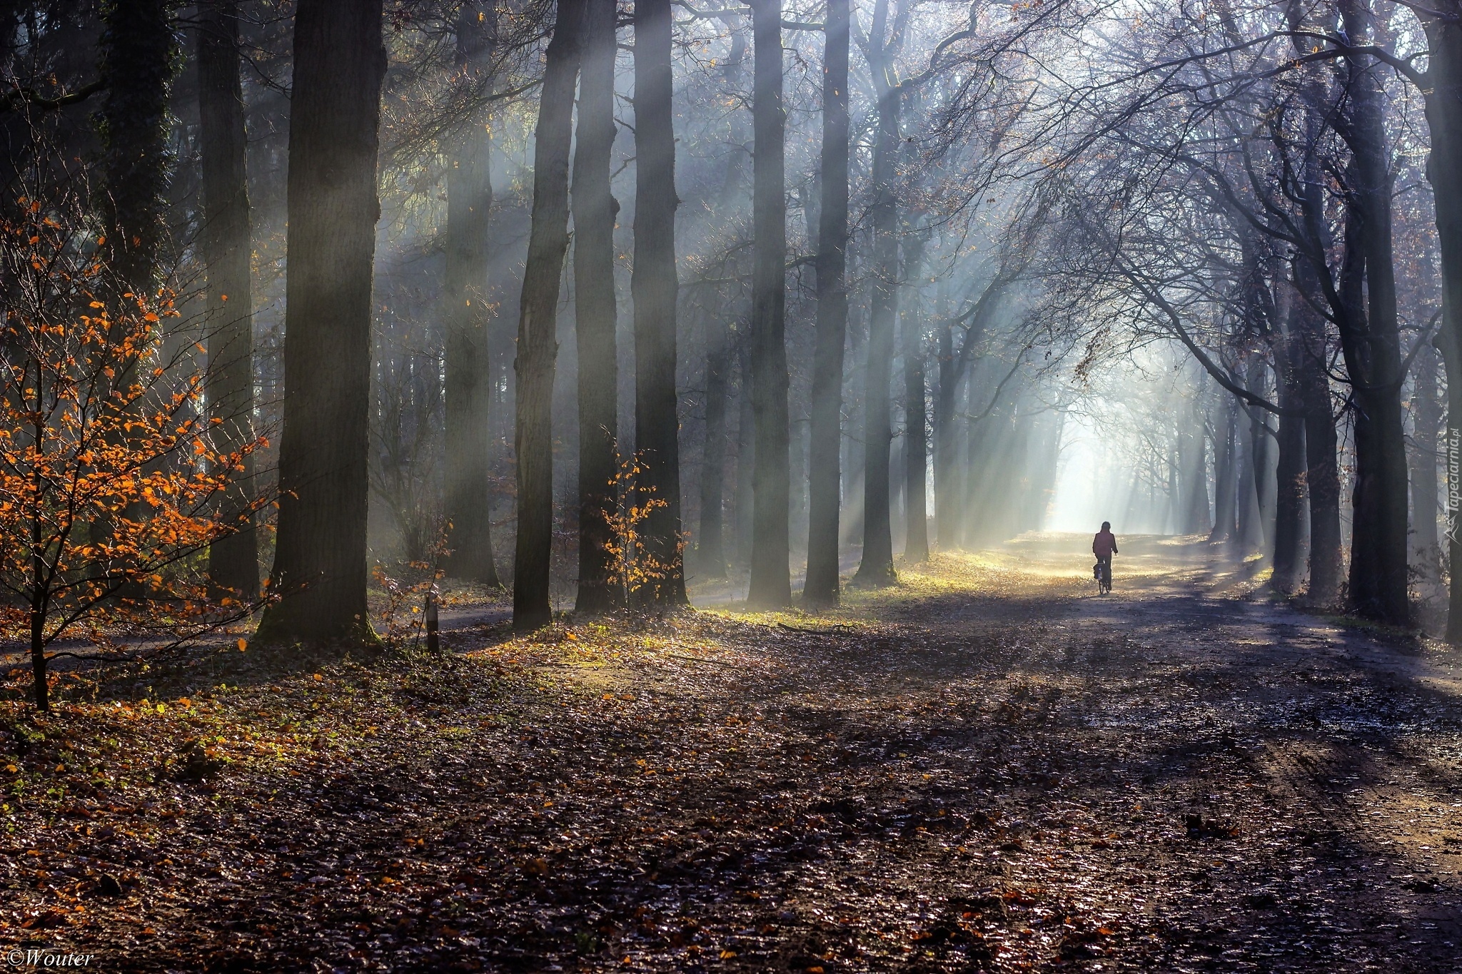
[[[636,489],[664,507],[645,518],[646,553],[664,572],[642,593],[686,605],[675,399],[675,129],[670,0],[635,4],[635,451]]]

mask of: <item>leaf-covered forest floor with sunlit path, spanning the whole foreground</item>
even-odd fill
[[[1083,549],[939,556],[816,616],[72,673],[44,718],[15,675],[0,958],[1459,970],[1462,657],[1193,539],[1124,539],[1098,597]]]

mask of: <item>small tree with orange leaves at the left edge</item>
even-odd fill
[[[60,640],[177,645],[246,615],[200,555],[266,502],[219,518],[263,440],[215,448],[203,378],[164,361],[171,301],[118,295],[101,242],[39,203],[0,221],[0,628],[29,645],[39,710]]]

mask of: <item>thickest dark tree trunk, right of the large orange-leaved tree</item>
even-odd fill
[[[382,0],[300,0],[289,102],[279,530],[265,643],[374,641],[366,610]]]

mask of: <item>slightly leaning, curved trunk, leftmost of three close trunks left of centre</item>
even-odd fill
[[[516,423],[518,539],[513,548],[513,628],[553,619],[553,380],[558,356],[558,283],[569,250],[569,145],[573,89],[583,47],[586,0],[558,0],[534,131],[534,215],[518,308]]]

